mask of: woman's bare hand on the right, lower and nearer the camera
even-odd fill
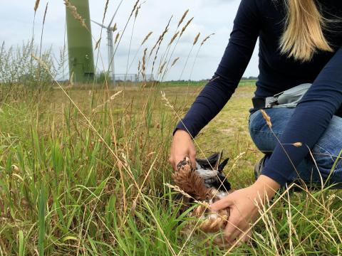
[[[271,178],[261,175],[258,180],[247,188],[234,191],[229,196],[213,203],[212,210],[229,208],[230,216],[224,230],[224,236],[229,244],[234,245],[236,240],[247,242],[250,238],[249,223],[257,220],[259,215],[256,201],[259,206],[271,199],[280,188]],[[262,206],[261,206],[262,207]]]

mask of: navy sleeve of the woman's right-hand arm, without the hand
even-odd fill
[[[294,166],[318,142],[341,103],[342,48],[336,51],[297,105],[280,138],[282,145],[276,146],[261,174],[284,186],[295,171]],[[292,146],[295,142],[301,142],[303,146]]]

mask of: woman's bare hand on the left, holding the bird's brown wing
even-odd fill
[[[182,161],[185,156],[189,156],[192,167],[196,167],[196,151],[194,143],[187,132],[178,129],[173,135],[170,158],[173,169]]]

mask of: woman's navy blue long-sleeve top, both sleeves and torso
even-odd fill
[[[333,114],[342,117],[342,1],[316,0],[316,4],[324,18],[333,19],[323,29],[333,52],[317,50],[311,60],[302,62],[279,50],[286,18],[284,0],[242,0],[217,71],[176,129],[187,130],[195,137],[222,110],[237,88],[259,37],[255,97],[269,97],[306,82],[313,84],[281,136],[283,144],[302,142],[311,149]],[[294,166],[309,154],[307,146],[284,146],[289,156],[276,146],[261,174],[284,186]]]

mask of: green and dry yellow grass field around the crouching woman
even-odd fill
[[[117,90],[6,95],[0,255],[227,255],[208,244],[212,236],[182,235],[190,220],[177,215],[180,202],[164,185],[172,183],[167,156],[177,116],[199,90],[126,87],[110,102]],[[223,149],[230,157],[225,173],[234,188],[253,183],[261,157],[247,131],[253,92],[239,87],[196,139],[204,154]],[[229,254],[339,255],[340,196],[326,190],[276,196],[261,209],[252,243]]]

